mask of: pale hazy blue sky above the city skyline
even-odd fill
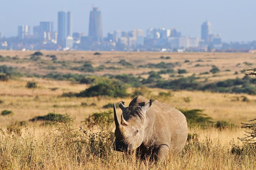
[[[40,21],[54,22],[57,12],[73,15],[73,32],[88,35],[91,5],[102,13],[103,35],[114,30],[133,28],[176,28],[182,36],[200,37],[201,24],[207,19],[212,33],[224,42],[256,40],[256,0],[8,0],[0,7],[0,32],[17,36],[18,25],[33,26]]]

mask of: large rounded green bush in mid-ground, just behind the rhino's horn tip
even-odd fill
[[[75,95],[77,97],[125,97],[128,95],[126,89],[127,86],[119,80],[104,80]]]

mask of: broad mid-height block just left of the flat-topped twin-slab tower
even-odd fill
[[[39,38],[41,40],[50,41],[51,33],[53,32],[53,22],[40,22],[39,26]]]

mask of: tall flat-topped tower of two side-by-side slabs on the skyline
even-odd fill
[[[58,44],[64,46],[67,37],[72,37],[71,12],[58,12]]]

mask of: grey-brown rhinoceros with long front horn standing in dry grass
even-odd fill
[[[121,122],[114,103],[114,150],[132,152],[145,159],[161,162],[169,151],[179,153],[187,141],[186,117],[177,109],[157,100],[148,101],[142,96],[133,99],[129,107],[119,102]]]

